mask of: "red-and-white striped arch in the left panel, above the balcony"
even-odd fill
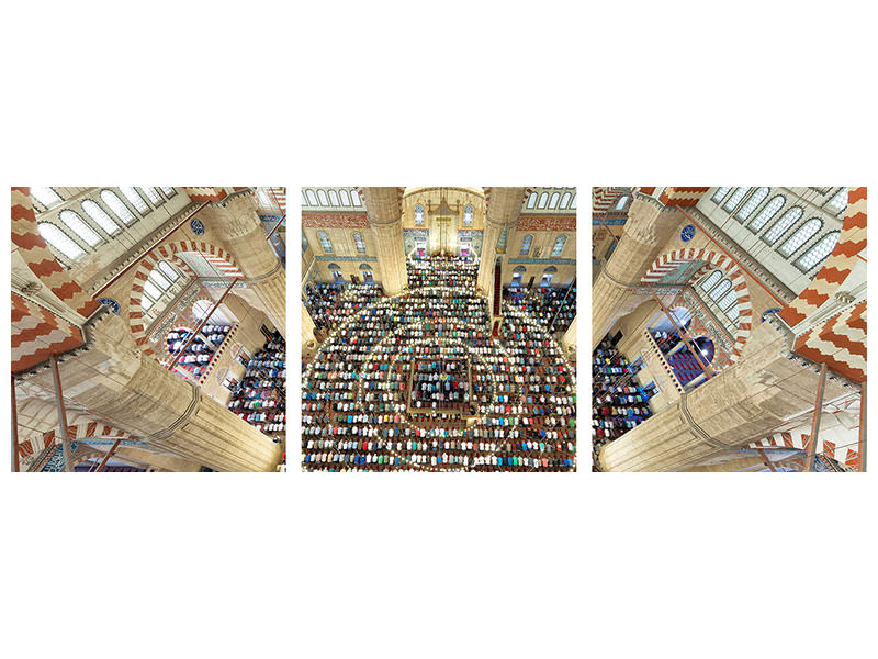
[[[176,266],[189,273],[190,277],[193,279],[196,278],[196,275],[185,265],[185,261],[180,258],[180,256],[185,253],[200,254],[227,277],[244,277],[244,273],[238,268],[232,255],[210,243],[195,243],[194,241],[165,243],[156,247],[153,255],[144,257],[137,265],[137,270],[134,272],[134,283],[132,284],[128,299],[128,323],[131,333],[134,336],[134,342],[151,357],[158,358],[155,350],[153,350],[147,343],[146,327],[143,322],[144,310],[140,305],[140,300],[144,294],[143,282],[147,280],[153,268],[158,267],[158,261],[160,260],[171,260]]]

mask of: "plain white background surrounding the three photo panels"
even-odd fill
[[[875,183],[865,3],[307,5],[7,8],[3,188],[288,186],[295,347],[300,185],[576,185],[587,282],[593,185]],[[876,655],[874,474],[592,474],[582,373],[577,474],[12,477],[3,450],[3,654]]]

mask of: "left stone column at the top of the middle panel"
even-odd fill
[[[363,188],[369,224],[378,242],[378,267],[387,295],[408,286],[403,244],[403,211],[397,188]]]

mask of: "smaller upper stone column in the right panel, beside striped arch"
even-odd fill
[[[678,220],[676,211],[665,209],[650,197],[639,194],[631,202],[619,244],[592,286],[593,350],[620,316],[652,298],[649,293],[635,294],[634,290],[661,256],[658,253]]]

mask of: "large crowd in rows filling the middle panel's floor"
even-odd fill
[[[333,331],[303,364],[303,468],[575,469],[575,365],[544,326],[509,305],[492,337],[472,259],[407,268],[404,294],[346,286],[325,310]]]

